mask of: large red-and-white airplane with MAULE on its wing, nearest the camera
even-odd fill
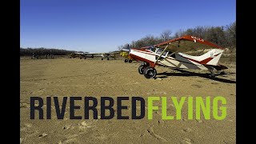
[[[211,49],[211,50],[210,50]],[[201,51],[199,51],[201,50]],[[190,53],[205,54],[194,56]],[[224,48],[202,38],[192,35],[184,35],[154,46],[146,46],[142,49],[132,48],[129,55],[138,62],[142,62],[138,67],[138,73],[144,74],[145,78],[155,78],[157,70],[155,66],[166,66],[176,69],[209,70],[210,76],[214,77],[214,70],[228,69],[226,66],[218,64]]]

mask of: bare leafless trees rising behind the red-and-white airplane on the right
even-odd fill
[[[127,49],[128,46],[133,48],[153,46],[161,42],[166,42],[170,39],[182,37],[183,35],[194,35],[195,37],[213,42],[218,46],[234,50],[236,47],[236,22],[230,23],[230,25],[226,26],[196,26],[186,30],[178,30],[174,34],[171,30],[165,30],[158,37],[146,35],[144,38],[118,46],[118,49]]]

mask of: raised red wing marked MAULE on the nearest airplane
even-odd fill
[[[208,42],[202,38],[194,37],[192,35],[184,35],[180,38],[171,39],[170,41],[162,42],[155,47],[165,48],[169,45],[166,50],[171,51],[196,51],[196,50],[205,50],[205,49],[223,49],[221,46],[215,45],[212,42]]]

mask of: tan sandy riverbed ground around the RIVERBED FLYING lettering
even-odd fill
[[[229,65],[226,75],[209,78],[208,71],[190,70],[181,73],[164,67],[156,67],[156,79],[146,79],[138,74],[139,63],[121,60],[99,59],[30,59],[20,61],[20,141],[22,143],[236,143],[236,71]],[[227,116],[224,120],[187,120],[187,107],[182,109],[182,120],[164,121],[161,110],[153,120],[146,116],[140,120],[84,119],[70,120],[69,101],[63,120],[56,118],[52,104],[52,119],[30,119],[30,97],[38,96],[166,96],[167,113],[175,114],[171,96],[223,96],[226,98]],[[76,105],[84,105],[83,101]],[[130,116],[130,101],[123,102]],[[160,102],[154,105],[161,106]],[[160,108],[161,109],[161,108]],[[100,106],[98,106],[100,110]],[[116,110],[114,108],[114,110]],[[44,111],[45,112],[45,111]],[[99,115],[99,114],[98,114]],[[91,116],[91,115],[90,115]],[[211,115],[212,117],[212,115]]]

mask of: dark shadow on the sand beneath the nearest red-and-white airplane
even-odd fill
[[[198,76],[198,77],[202,77],[202,78],[212,79],[212,80],[218,81],[218,82],[236,83],[236,81],[232,81],[229,79],[210,77],[210,74],[199,74],[199,73],[194,73],[194,72],[180,70],[180,69],[172,69],[172,70],[176,70],[176,71],[179,71],[182,73],[163,72],[163,73],[157,74],[158,75],[157,78],[168,78],[168,76],[182,76],[182,77]],[[234,73],[230,73],[230,74],[234,74]],[[215,76],[220,76],[220,75],[226,75],[226,74],[223,74],[223,73],[215,74]],[[223,76],[223,77],[225,77],[225,76]]]

